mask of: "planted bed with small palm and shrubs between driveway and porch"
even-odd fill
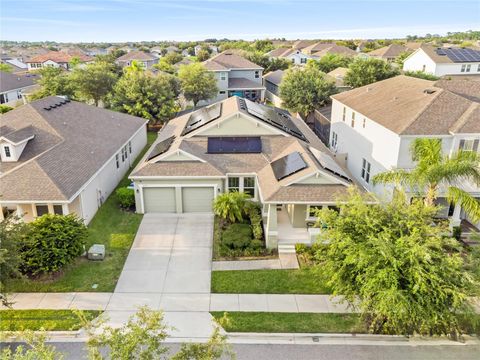
[[[214,260],[266,257],[261,208],[248,201],[245,194],[233,192],[220,195],[214,203]]]

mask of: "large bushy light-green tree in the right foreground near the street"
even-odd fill
[[[333,294],[357,306],[371,332],[456,336],[478,284],[446,224],[433,224],[438,209],[405,200],[397,193],[372,204],[351,190],[340,212],[319,211],[328,244],[316,259]]]

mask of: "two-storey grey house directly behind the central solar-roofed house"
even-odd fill
[[[218,95],[210,102],[240,96],[253,101],[263,101],[263,68],[232,51],[224,51],[203,63],[217,79]]]

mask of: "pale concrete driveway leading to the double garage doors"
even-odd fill
[[[146,214],[107,305],[112,325],[141,305],[165,312],[175,337],[208,337],[213,215]]]

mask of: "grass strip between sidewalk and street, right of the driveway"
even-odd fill
[[[220,320],[223,312],[212,312]],[[227,332],[366,333],[358,314],[228,312]]]

